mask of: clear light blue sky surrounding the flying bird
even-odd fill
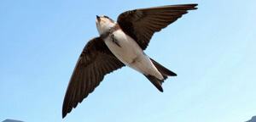
[[[145,53],[177,73],[159,92],[124,67],[61,119],[68,81],[96,15],[198,3]],[[244,122],[256,115],[256,1],[1,0],[0,121]]]

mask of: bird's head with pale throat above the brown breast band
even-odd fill
[[[108,18],[108,16],[102,15],[102,16],[96,16],[96,17],[97,17],[96,26],[100,35],[109,31],[115,25],[115,22],[113,21],[113,19]]]

